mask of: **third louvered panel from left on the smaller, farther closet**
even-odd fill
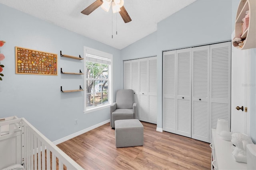
[[[140,59],[139,120],[148,121],[148,59]]]

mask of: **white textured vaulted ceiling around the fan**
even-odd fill
[[[81,14],[81,11],[94,1],[0,0],[0,3],[117,49],[123,49],[156,31],[159,21],[196,0],[124,0],[124,7],[132,19],[129,23],[124,23],[119,13],[112,14],[112,10],[105,12],[100,7],[88,16]]]

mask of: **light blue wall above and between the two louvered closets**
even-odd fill
[[[121,50],[123,60],[157,55],[157,127],[162,128],[162,51],[230,40],[233,23],[232,0],[197,0],[160,21],[152,36]]]

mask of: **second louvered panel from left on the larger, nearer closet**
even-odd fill
[[[191,137],[191,48],[177,55],[176,134]]]

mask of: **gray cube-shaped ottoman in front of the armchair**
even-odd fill
[[[138,119],[115,121],[116,147],[142,146],[144,143],[143,125]]]

